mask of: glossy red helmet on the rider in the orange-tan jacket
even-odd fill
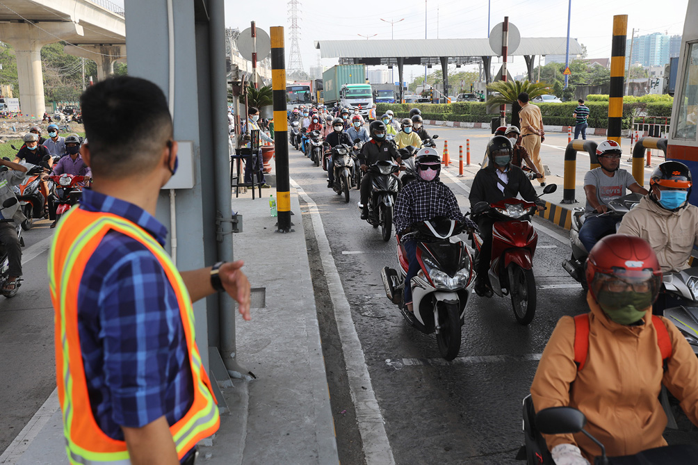
[[[609,290],[613,290],[612,286],[641,285],[651,291],[654,302],[662,284],[662,268],[654,249],[644,239],[612,234],[597,242],[589,252],[586,282],[594,300],[598,300],[599,290],[604,285],[609,286]]]

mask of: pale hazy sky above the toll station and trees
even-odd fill
[[[124,0],[112,0],[119,5]],[[380,20],[400,20],[394,26],[394,38],[424,38],[422,0],[299,0],[301,10],[300,49],[306,71],[318,63],[319,50],[314,40],[366,40],[359,37],[378,34],[376,39],[390,38],[390,24]],[[491,6],[490,28],[509,16],[522,37],[567,36],[567,0],[426,0],[428,38],[487,37],[487,10]],[[589,58],[609,58],[614,15],[628,15],[628,38],[632,29],[641,36],[653,32],[682,34],[688,0],[572,0],[570,36],[586,45]],[[438,10],[438,15],[437,15]],[[290,47],[288,0],[225,0],[225,24],[241,31],[250,26],[269,32],[270,26],[284,26],[287,62]],[[438,31],[437,31],[438,24]],[[369,39],[370,40],[370,39]],[[336,59],[323,59],[332,66]],[[436,66],[433,70],[436,70]],[[477,67],[475,67],[477,68]],[[424,68],[406,67],[420,75]],[[461,68],[462,69],[462,68]],[[467,67],[466,67],[467,69]],[[512,74],[526,70],[523,57],[514,58]]]

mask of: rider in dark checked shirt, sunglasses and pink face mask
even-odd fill
[[[463,217],[458,200],[451,189],[440,182],[438,175],[441,171],[441,158],[436,150],[431,148],[419,150],[415,156],[415,167],[417,168],[415,180],[401,189],[395,200],[393,221],[398,235],[402,236],[409,232],[410,227],[415,223],[428,221],[437,216],[465,221],[471,230],[477,228],[473,221]],[[412,313],[410,280],[417,276],[419,271],[417,242],[406,240],[403,246],[410,264],[405,277],[405,304],[407,311]]]

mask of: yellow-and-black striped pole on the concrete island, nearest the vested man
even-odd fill
[[[286,63],[283,27],[269,28],[272,39],[272,94],[274,95],[274,158],[276,158],[277,232],[292,232],[291,193],[288,171],[288,119],[286,117]]]

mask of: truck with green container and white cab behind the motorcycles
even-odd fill
[[[359,113],[369,116],[373,106],[371,84],[366,82],[365,65],[336,65],[322,73],[322,98],[325,105],[339,103],[341,107],[359,108]]]

